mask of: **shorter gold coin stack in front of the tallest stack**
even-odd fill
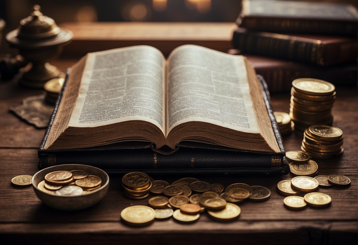
[[[343,153],[343,132],[338,127],[313,125],[305,129],[301,149],[315,159],[329,159]]]

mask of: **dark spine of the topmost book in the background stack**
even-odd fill
[[[358,27],[355,21],[263,18],[260,16],[244,16],[237,20],[237,24],[251,30],[340,36],[357,36]]]

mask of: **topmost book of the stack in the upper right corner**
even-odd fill
[[[357,36],[358,13],[342,3],[243,0],[236,23],[258,31]]]

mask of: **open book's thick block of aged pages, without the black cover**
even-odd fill
[[[261,84],[243,56],[183,45],[88,53],[72,68],[44,150],[195,141],[281,152]]]

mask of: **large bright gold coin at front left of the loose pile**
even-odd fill
[[[121,218],[132,225],[146,225],[154,220],[155,211],[148,206],[134,205],[123,209]]]

